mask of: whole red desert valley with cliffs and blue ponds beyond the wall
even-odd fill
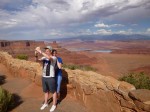
[[[3,46],[6,43],[6,46]],[[10,45],[8,44],[10,43]],[[13,57],[18,54],[28,55],[28,60],[35,61],[36,46],[51,45],[58,50],[64,64],[90,66],[102,75],[119,78],[130,72],[145,72],[150,75],[150,41],[2,41],[0,49]],[[8,45],[7,45],[8,44]],[[28,45],[29,44],[29,45]]]

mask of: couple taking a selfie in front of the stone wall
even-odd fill
[[[53,112],[56,109],[57,99],[60,97],[62,59],[57,57],[57,51],[53,50],[51,46],[47,46],[44,49],[45,52],[42,52],[40,47],[35,49],[36,54],[39,53],[43,56],[38,59],[38,55],[36,55],[36,61],[38,60],[43,62],[42,87],[43,92],[45,93],[45,98],[44,104],[40,109],[43,110],[48,107],[49,92],[51,92],[53,94],[53,105],[50,112]]]

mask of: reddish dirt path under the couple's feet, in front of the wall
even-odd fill
[[[0,65],[1,70],[6,72],[6,68]],[[0,75],[6,75],[0,70]],[[52,105],[44,110],[40,110],[42,105],[44,95],[42,88],[35,85],[35,83],[22,78],[12,77],[6,75],[5,83],[2,87],[9,92],[19,96],[20,104],[14,108],[11,112],[49,112],[49,109]],[[82,106],[76,99],[71,95],[67,96],[57,105],[55,112],[87,112],[86,108]]]

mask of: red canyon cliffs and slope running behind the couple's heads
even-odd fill
[[[44,41],[6,41],[0,40],[0,51],[8,52],[13,57],[16,57],[20,54],[25,54],[28,56],[29,61],[34,61],[34,49],[37,46],[44,48],[45,46],[50,45],[54,49],[57,49],[60,57],[67,64],[78,64],[81,63],[84,65],[91,65],[96,63],[97,60],[95,58],[89,58],[83,54],[77,54],[76,52],[70,52],[67,49],[62,48],[56,41],[53,42],[44,42]]]

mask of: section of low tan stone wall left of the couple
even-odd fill
[[[6,52],[0,52],[0,63],[5,65],[11,75],[15,77],[23,77],[35,81],[35,77],[41,74],[40,64],[14,59]]]

